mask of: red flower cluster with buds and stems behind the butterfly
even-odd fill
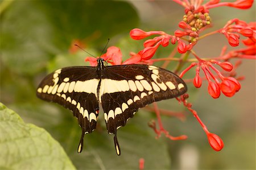
[[[134,28],[130,31],[130,36],[134,40],[147,39],[143,43],[143,49],[137,53],[130,52],[130,58],[122,63],[122,53],[118,47],[109,47],[107,52],[101,57],[111,63],[112,65],[119,64],[135,64],[135,63],[146,63],[152,64],[156,61],[165,60],[163,67],[172,61],[178,61],[175,73],[180,73],[180,77],[183,77],[192,68],[195,68],[195,77],[192,81],[184,80],[187,82],[193,82],[196,88],[200,88],[203,81],[208,81],[208,92],[213,98],[220,97],[220,94],[224,94],[227,97],[232,97],[240,89],[241,85],[238,80],[242,78],[236,77],[236,68],[241,64],[241,59],[256,59],[256,22],[246,23],[240,19],[229,20],[224,27],[208,34],[202,35],[204,30],[212,27],[212,19],[210,18],[210,9],[220,6],[234,7],[237,9],[249,9],[253,5],[253,0],[237,0],[234,2],[220,2],[219,0],[210,0],[203,4],[202,1],[198,0],[174,0],[174,2],[185,8],[185,14],[182,20],[179,22],[179,29],[168,34],[164,31],[143,31],[139,28]],[[227,47],[223,47],[220,56],[217,57],[200,57],[193,50],[193,47],[197,44],[200,39],[207,38],[210,35],[222,34],[228,40],[228,43],[232,47],[240,45],[240,39],[243,37],[242,43],[245,47],[235,49],[227,52]],[[170,56],[162,59],[152,59],[157,49],[167,47],[168,45],[176,44],[176,49],[170,53]],[[211,50],[211,49],[209,49]],[[180,59],[175,58],[177,52],[181,53]],[[192,57],[190,57],[192,56]],[[238,59],[235,65],[230,63],[231,59]],[[87,57],[85,61],[89,61],[92,66],[97,64],[97,59],[94,57]],[[183,71],[184,64],[191,63]],[[204,76],[200,76],[200,71]],[[207,127],[200,120],[197,112],[192,109],[192,104],[187,102],[188,94],[176,98],[177,101],[183,103],[185,107],[194,115],[203,130],[207,134],[210,146],[220,151],[224,147],[224,143],[221,138],[208,131]],[[157,138],[161,133],[172,140],[186,139],[187,136],[171,136],[168,131],[163,128],[160,112],[163,110],[158,109],[156,103],[154,103],[154,110],[157,118],[159,129],[156,128],[155,121],[151,121],[148,125],[153,128],[157,134]],[[171,114],[170,114],[171,115]],[[142,165],[141,165],[142,166]],[[140,167],[141,168],[141,167]],[[143,169],[143,168],[141,168]]]

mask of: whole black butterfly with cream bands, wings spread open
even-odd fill
[[[75,66],[57,69],[40,82],[36,95],[59,103],[77,117],[82,128],[77,152],[84,135],[96,129],[100,106],[109,134],[114,134],[117,155],[121,154],[117,129],[126,125],[139,108],[187,92],[185,82],[166,69],[146,64],[110,65],[102,58],[96,67]]]

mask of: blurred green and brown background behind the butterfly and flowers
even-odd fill
[[[139,158],[145,169],[255,169],[255,61],[244,60],[237,72],[245,76],[242,89],[232,98],[208,95],[202,88],[189,86],[189,102],[209,131],[221,136],[225,147],[213,151],[199,123],[175,99],[159,102],[161,109],[185,110],[186,119],[162,116],[172,135],[188,135],[184,141],[171,141],[155,134],[147,122],[154,113],[140,109],[125,127],[118,130],[122,155],[114,151],[113,136],[100,126],[85,135],[85,148],[77,154],[81,129],[71,111],[36,98],[36,87],[46,74],[71,65],[88,65],[86,53],[69,52],[72,41],[81,40],[85,48],[100,55],[109,45],[121,48],[123,61],[129,52],[138,52],[143,41],[131,40],[132,28],[162,30],[172,34],[183,18],[184,9],[171,1],[0,1],[1,91],[0,101],[13,109],[24,122],[45,128],[55,138],[77,169],[138,169]],[[210,10],[218,29],[233,18],[255,21],[255,5],[250,10],[220,7]],[[209,30],[209,31],[210,31]],[[218,56],[228,44],[223,35],[201,40],[195,48],[200,57]],[[166,57],[170,47],[160,47],[155,57]],[[229,48],[234,49],[234,48]],[[155,63],[161,65],[162,63]],[[170,69],[176,63],[170,64]],[[191,71],[184,78],[192,78]],[[1,155],[0,157],[5,157]]]

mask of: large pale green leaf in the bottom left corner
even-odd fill
[[[0,103],[0,169],[76,169],[43,128],[26,124]]]

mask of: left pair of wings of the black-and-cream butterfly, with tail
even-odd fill
[[[98,118],[97,85],[95,67],[67,67],[48,74],[40,82],[36,96],[56,102],[71,110],[82,128],[77,152],[82,151],[84,134],[96,128]]]

